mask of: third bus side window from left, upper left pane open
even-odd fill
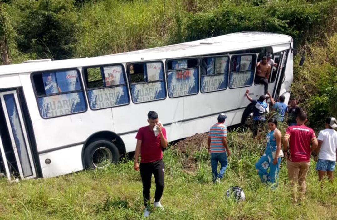
[[[131,97],[134,103],[166,98],[162,62],[132,63],[128,65]]]

